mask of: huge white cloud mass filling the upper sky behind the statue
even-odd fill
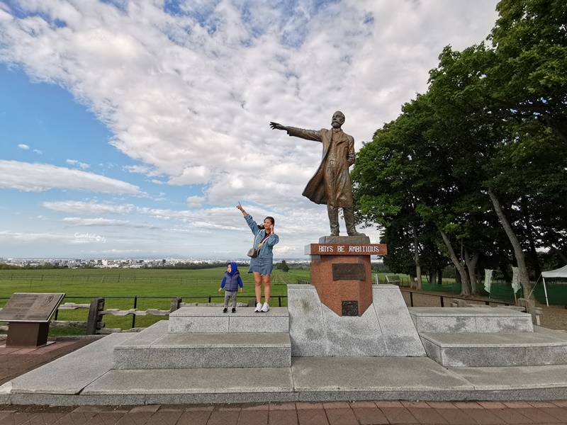
[[[161,2],[120,11],[103,2],[26,1],[33,17],[0,23],[0,60],[89,105],[113,131],[111,143],[146,164],[130,171],[206,184],[217,201],[227,180],[240,179],[231,201],[254,191],[275,207],[301,198],[320,147],[270,130],[270,120],[318,129],[340,108],[360,147],[425,91],[444,45],[488,35],[495,4],[220,0],[181,4],[184,13],[173,16]],[[55,18],[66,26],[52,25]],[[281,164],[288,172],[274,174]],[[258,176],[264,184],[251,187]],[[280,185],[286,198],[274,192]]]

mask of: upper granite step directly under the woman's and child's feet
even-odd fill
[[[272,307],[269,312],[254,312],[252,307],[223,313],[222,307],[183,307],[169,314],[169,333],[281,333],[289,331],[286,307]]]

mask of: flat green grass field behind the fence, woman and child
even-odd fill
[[[238,293],[239,302],[248,302],[254,297],[254,278],[242,266],[244,291]],[[159,308],[169,310],[172,298],[182,297],[184,302],[223,302],[224,291],[218,288],[223,280],[225,268],[201,270],[165,270],[140,268],[75,268],[49,270],[2,270],[0,271],[0,307],[13,293],[64,293],[65,302],[89,304],[93,297],[105,297],[106,309],[138,310]],[[287,284],[298,279],[309,280],[309,270],[291,269],[284,273],[274,268],[271,276],[270,305],[277,307],[281,301],[287,306]],[[278,297],[282,296],[281,299]],[[135,299],[135,297],[137,297]],[[217,297],[217,298],[214,298]],[[60,310],[57,320],[86,322],[86,309]],[[137,316],[135,327],[148,327],[167,316]],[[104,316],[107,328],[130,329],[133,316]],[[50,335],[84,334],[84,329],[50,329]]]

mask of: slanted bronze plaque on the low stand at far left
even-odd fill
[[[65,294],[14,293],[0,311],[2,322],[49,322]]]

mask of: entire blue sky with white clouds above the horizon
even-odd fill
[[[274,260],[307,259],[322,147],[269,123],[340,110],[358,152],[496,4],[0,0],[0,258],[244,259],[240,201],[274,217]]]

